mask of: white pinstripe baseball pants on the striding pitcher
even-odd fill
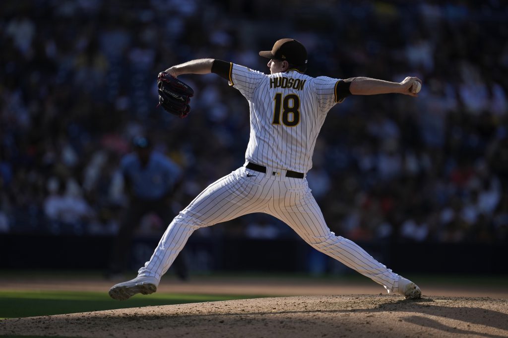
[[[273,175],[274,172],[278,174]],[[209,185],[173,219],[150,260],[139,269],[138,276],[160,280],[194,230],[262,212],[291,226],[316,250],[384,285],[389,291],[396,291],[397,274],[354,242],[330,231],[307,180],[284,177],[284,172],[280,172],[267,167],[264,174],[240,167]]]

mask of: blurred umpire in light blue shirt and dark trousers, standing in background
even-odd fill
[[[164,154],[154,151],[147,137],[135,137],[133,152],[126,154],[120,162],[129,205],[123,213],[120,229],[113,241],[113,250],[107,277],[123,273],[128,265],[135,229],[144,215],[153,212],[164,224],[169,224],[173,212],[171,195],[181,183],[181,170]],[[175,261],[175,273],[185,280],[187,267],[183,255]]]

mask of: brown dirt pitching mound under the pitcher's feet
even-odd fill
[[[506,299],[298,296],[0,321],[0,335],[79,337],[508,336]]]

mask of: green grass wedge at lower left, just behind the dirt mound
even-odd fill
[[[127,301],[118,301],[111,299],[104,292],[0,291],[0,318],[49,316],[257,297],[260,296],[155,293],[147,296],[135,295]]]

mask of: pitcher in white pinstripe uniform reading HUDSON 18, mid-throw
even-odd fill
[[[113,286],[109,294],[124,300],[136,293],[157,290],[161,277],[194,230],[249,213],[267,213],[288,224],[301,238],[360,274],[405,298],[420,298],[420,288],[376,261],[354,242],[328,228],[307,185],[312,153],[328,112],[350,95],[400,93],[418,96],[421,80],[407,77],[400,83],[371,78],[334,79],[305,75],[307,51],[294,39],[275,42],[269,59],[270,74],[216,59],[175,65],[159,76],[160,103],[168,112],[185,117],[190,95],[176,105],[185,84],[182,74],[215,73],[238,89],[250,109],[250,138],[245,163],[201,192],[169,224],[150,260],[138,277]],[[181,84],[175,86],[174,81]],[[177,89],[175,89],[177,88]],[[192,94],[192,93],[191,93]],[[175,107],[180,107],[176,109]]]

